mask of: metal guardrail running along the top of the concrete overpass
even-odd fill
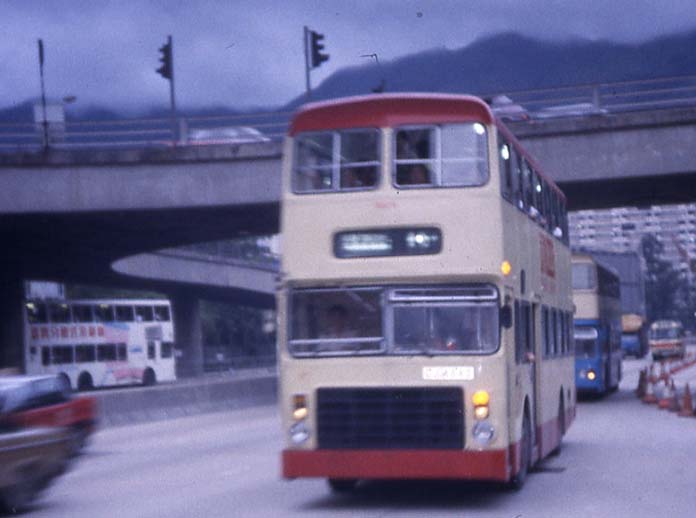
[[[696,105],[696,75],[655,79],[569,85],[537,90],[479,94],[485,99],[507,98],[498,105],[501,117],[544,119],[583,117],[614,112],[663,109]],[[495,107],[495,106],[494,106]],[[52,149],[142,148],[235,144],[235,138],[197,140],[199,130],[254,128],[257,141],[283,138],[290,112],[243,115],[182,116],[174,127],[170,117],[49,123],[48,147]],[[244,140],[248,142],[248,140]],[[0,122],[0,152],[36,152],[44,148],[40,123]]]

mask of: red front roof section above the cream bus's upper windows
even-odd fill
[[[495,117],[484,101],[469,95],[378,94],[307,104],[293,118],[290,135],[301,131],[462,121],[492,124]]]

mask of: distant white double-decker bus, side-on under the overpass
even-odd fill
[[[58,374],[78,390],[176,379],[167,300],[28,300],[28,374]]]

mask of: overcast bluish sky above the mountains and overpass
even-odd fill
[[[302,27],[326,35],[331,59],[313,84],[363,54],[382,61],[456,49],[516,31],[545,39],[635,42],[696,28],[694,0],[0,0],[0,107],[47,95],[139,109],[167,105],[155,73],[174,38],[179,106],[281,105],[304,91]]]

